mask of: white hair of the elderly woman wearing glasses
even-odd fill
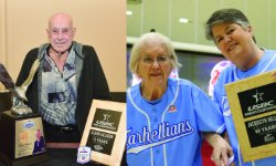
[[[132,73],[135,74],[138,73],[138,63],[140,60],[140,53],[145,48],[147,48],[152,42],[160,43],[167,51],[168,55],[171,56],[170,63],[172,69],[178,69],[181,66],[181,64],[178,62],[178,56],[174,52],[171,41],[163,34],[157,32],[149,32],[141,35],[140,39],[135,43],[135,45],[131,49],[129,69]]]

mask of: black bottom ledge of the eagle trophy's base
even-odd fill
[[[28,166],[28,165],[34,165],[38,163],[46,162],[49,160],[49,156],[46,153],[42,153],[42,154],[34,155],[34,156],[13,159],[13,158],[10,158],[4,153],[0,152],[0,160],[7,166]]]

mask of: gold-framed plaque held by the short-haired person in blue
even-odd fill
[[[225,85],[244,162],[276,155],[276,81],[272,74]]]

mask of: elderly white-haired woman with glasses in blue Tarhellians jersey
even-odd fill
[[[170,40],[144,34],[129,66],[141,82],[127,94],[128,165],[200,166],[202,135],[214,148],[215,164],[226,165],[232,149],[219,135],[225,128],[221,113],[193,83],[169,77],[180,66]]]

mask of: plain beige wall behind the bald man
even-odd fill
[[[15,81],[29,50],[47,42],[47,19],[71,14],[75,40],[93,45],[110,91],[126,90],[126,1],[0,0],[0,61]]]

